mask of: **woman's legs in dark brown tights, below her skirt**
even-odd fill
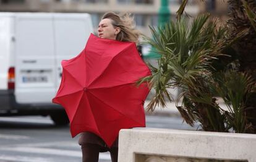
[[[100,145],[93,143],[86,143],[81,146],[82,148],[82,162],[98,162],[99,153],[100,153]],[[111,161],[117,162],[118,157],[118,148],[113,147],[109,149]]]

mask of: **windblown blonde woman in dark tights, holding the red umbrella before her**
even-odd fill
[[[117,15],[113,12],[107,12],[98,25],[98,36],[100,38],[137,43],[139,35],[139,32],[134,29],[134,20],[129,14]],[[83,132],[79,137],[79,145],[82,148],[83,162],[96,162],[99,153],[105,151],[110,152],[113,162],[117,161],[118,139],[111,148],[108,148],[106,143],[97,135],[91,132]]]

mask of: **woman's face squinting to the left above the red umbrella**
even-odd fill
[[[111,19],[103,19],[98,26],[98,36],[109,40],[116,40],[116,35],[120,32],[120,28],[111,23]]]

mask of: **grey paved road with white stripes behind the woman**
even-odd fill
[[[146,121],[147,127],[196,129],[182,124],[180,117],[147,116]],[[0,161],[81,161],[77,138],[70,138],[69,127],[56,127],[49,117],[0,117]],[[109,161],[109,153],[100,153],[100,162]]]

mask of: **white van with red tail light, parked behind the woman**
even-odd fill
[[[0,12],[0,116],[50,115],[67,124],[51,103],[63,59],[76,56],[93,32],[89,14]]]

